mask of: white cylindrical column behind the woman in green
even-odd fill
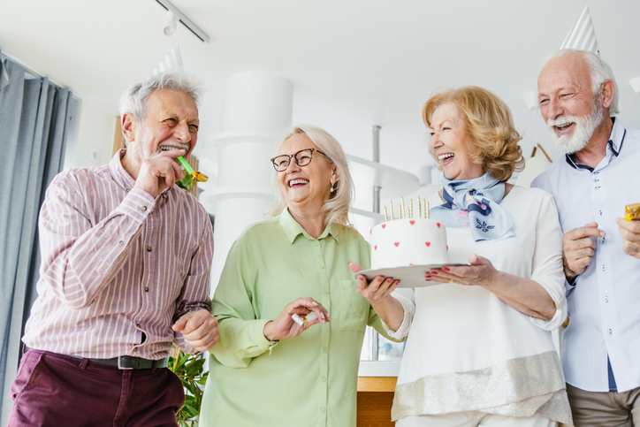
[[[225,81],[222,132],[204,146],[205,155],[219,150],[217,187],[200,196],[205,207],[216,203],[212,294],[233,242],[273,204],[271,149],[292,111],[293,85],[283,77],[239,72]]]

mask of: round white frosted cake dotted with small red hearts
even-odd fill
[[[433,219],[403,218],[371,229],[371,269],[449,263],[445,225]]]

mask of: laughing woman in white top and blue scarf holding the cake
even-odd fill
[[[567,316],[552,196],[507,184],[522,168],[521,138],[491,92],[439,93],[423,119],[444,172],[430,217],[446,225],[450,262],[468,265],[428,271],[438,286],[415,290],[358,278],[389,334],[408,336],[392,419],[399,427],[570,425],[550,332]]]

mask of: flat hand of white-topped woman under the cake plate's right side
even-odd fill
[[[491,286],[496,281],[499,271],[488,259],[470,255],[471,265],[447,265],[432,269],[424,275],[427,281],[438,283],[457,283],[459,285]]]

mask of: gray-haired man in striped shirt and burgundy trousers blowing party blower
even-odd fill
[[[42,265],[9,425],[176,425],[184,393],[166,369],[218,339],[209,216],[175,181],[194,149],[200,88],[150,76],[121,103],[127,149],[57,175],[40,212]]]

